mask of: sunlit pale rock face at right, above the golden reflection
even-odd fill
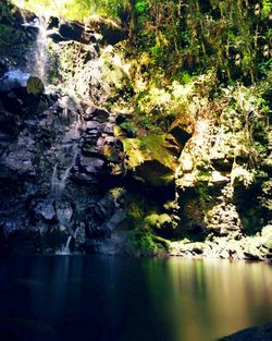
[[[269,260],[262,235],[271,231],[270,171],[257,157],[255,167],[250,166],[250,155],[258,155],[255,148],[263,141],[248,144],[242,119],[237,123],[237,114],[222,117],[218,122],[199,119],[181,154],[176,171],[180,233],[193,241],[198,236],[202,244],[195,253],[193,241],[177,243],[173,254]],[[268,160],[271,146],[262,148]]]

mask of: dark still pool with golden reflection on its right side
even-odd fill
[[[1,341],[211,341],[272,320],[272,266],[34,256],[0,260]]]

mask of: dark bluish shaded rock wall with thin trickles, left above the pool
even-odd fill
[[[4,118],[9,94],[1,95]],[[0,227],[7,248],[29,252],[27,239],[32,251],[50,252],[73,235],[82,249],[86,239],[110,236],[124,219],[122,195],[109,194],[111,179],[122,175],[114,117],[100,108],[86,117],[66,96],[28,96],[21,97],[17,129],[2,134]],[[4,123],[12,126],[16,111],[9,110],[11,121]],[[104,112],[111,122],[104,122]]]

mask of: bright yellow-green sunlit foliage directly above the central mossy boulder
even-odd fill
[[[151,86],[138,93],[136,113],[147,130],[156,126],[168,131],[174,120],[180,119],[186,126],[193,126],[202,108],[214,93],[217,81],[213,70],[206,75],[191,77],[186,72],[181,81],[172,81],[168,86]]]

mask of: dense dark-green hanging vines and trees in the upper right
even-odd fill
[[[153,72],[173,76],[181,70],[215,66],[222,81],[252,83],[271,65],[271,2],[137,1],[138,45],[149,53]],[[152,63],[150,64],[152,66]]]

